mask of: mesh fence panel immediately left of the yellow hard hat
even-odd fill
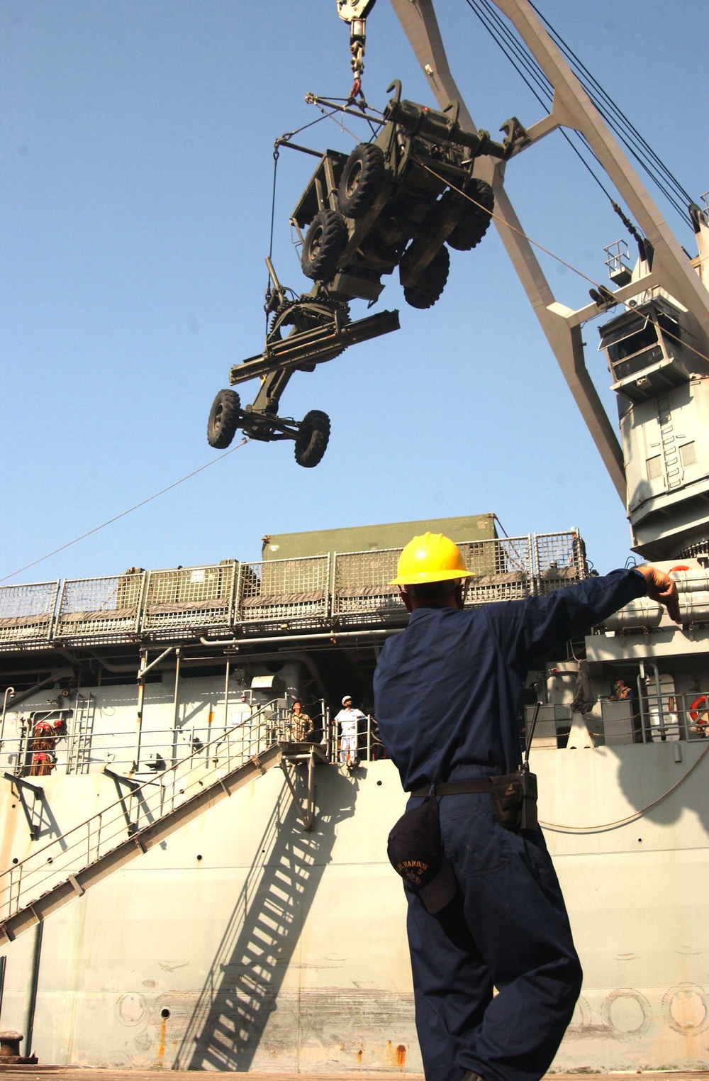
[[[401,548],[335,552],[332,614],[338,623],[390,623],[407,618],[399,587],[389,582],[397,573]]]

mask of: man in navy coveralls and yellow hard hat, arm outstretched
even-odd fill
[[[426,796],[438,799],[451,883],[446,893],[443,871],[420,892],[404,883],[416,1029],[427,1081],[538,1081],[571,1020],[581,969],[541,831],[504,828],[487,778],[520,768],[533,657],[637,597],[675,620],[679,601],[669,575],[644,565],[463,611],[470,576],[441,534],[406,545],[392,585],[411,619],[374,676],[384,745],[414,793],[402,822]]]

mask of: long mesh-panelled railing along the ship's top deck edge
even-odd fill
[[[459,543],[467,605],[520,600],[588,574],[577,531]],[[178,642],[405,619],[396,586],[401,548],[0,586],[0,651]]]

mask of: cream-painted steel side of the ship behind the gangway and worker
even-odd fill
[[[192,682],[200,731],[223,688]],[[84,693],[102,755],[106,731],[134,721],[135,689]],[[161,717],[164,697],[161,683],[148,685],[146,721]],[[553,1069],[697,1068],[709,1039],[709,744],[592,746],[575,734],[565,749],[540,734],[532,752],[585,970]],[[4,782],[3,868],[116,800],[101,772],[28,779],[44,789],[52,820],[31,841]],[[283,773],[270,769],[45,919],[40,1062],[420,1070],[405,905],[386,858],[404,805],[398,775],[386,760],[352,774],[321,764],[315,802],[306,832]],[[29,930],[4,947],[4,1028],[26,1026],[35,942]]]

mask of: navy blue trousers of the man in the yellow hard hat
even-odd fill
[[[481,775],[472,768],[455,773],[458,779]],[[412,799],[409,806],[418,803]],[[504,829],[483,792],[443,796],[439,805],[458,892],[431,916],[405,886],[426,1079],[460,1081],[472,1070],[484,1081],[538,1081],[581,987],[544,837]]]

